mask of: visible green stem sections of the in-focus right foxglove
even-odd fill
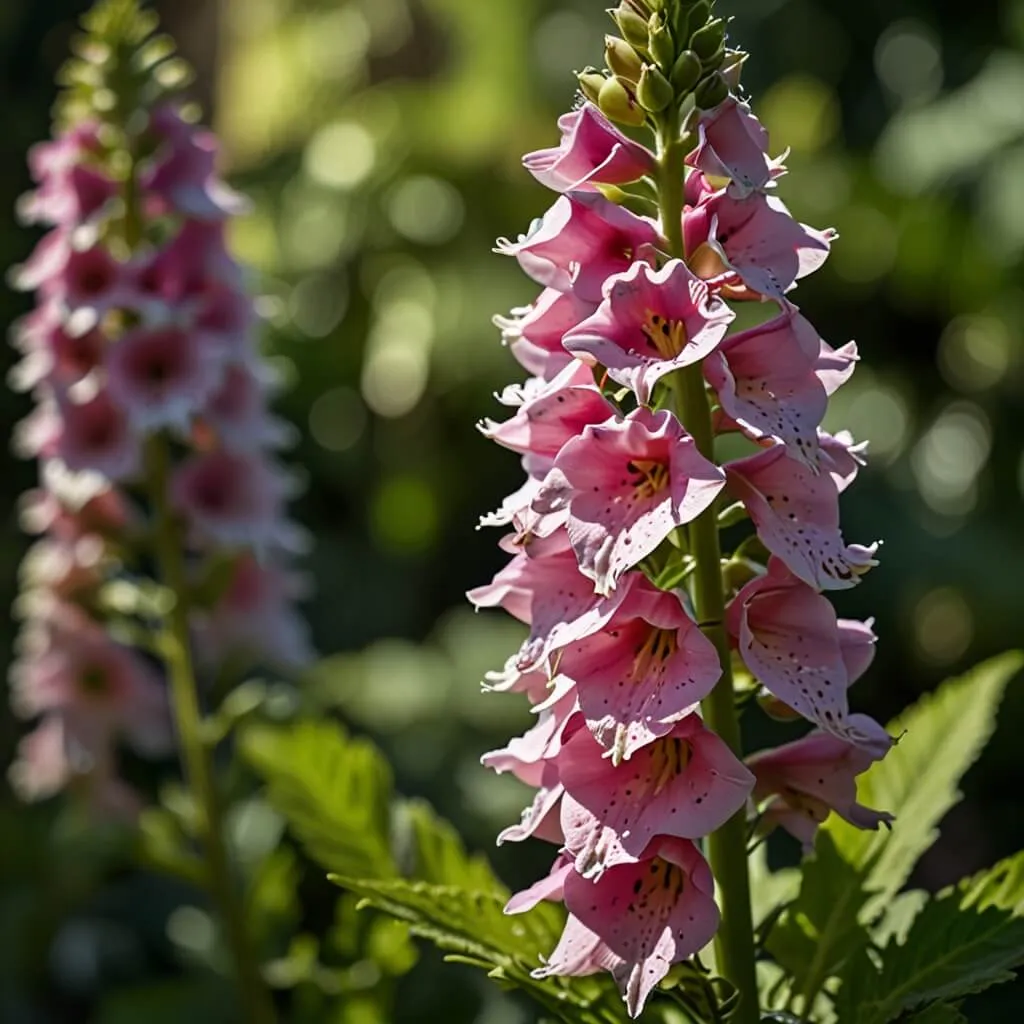
[[[674,122],[674,119],[670,119]],[[676,125],[659,132],[658,204],[662,229],[669,254],[685,258],[682,213],[684,159],[687,145],[679,138]],[[677,371],[670,378],[676,409],[705,458],[715,459],[715,430],[711,403],[699,364]],[[732,688],[729,638],[725,631],[725,593],[722,588],[722,551],[718,537],[717,512],[712,506],[689,524],[693,571],[692,597],[697,623],[718,650],[722,677],[700,705],[708,727],[742,756],[739,719]],[[758,1024],[758,986],[755,969],[754,919],[751,913],[751,881],[746,866],[745,811],[737,811],[708,837],[708,860],[718,884],[722,923],[715,936],[715,957],[721,975],[739,991],[739,1006],[730,1018],[733,1024]]]

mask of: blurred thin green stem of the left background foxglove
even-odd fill
[[[124,237],[129,250],[141,240],[138,188],[133,166],[125,182]],[[203,740],[202,715],[196,685],[188,628],[187,581],[183,538],[170,504],[170,452],[165,438],[154,435],[146,442],[145,474],[154,518],[154,548],[160,581],[171,594],[161,652],[170,682],[171,705],[178,743],[193,799],[200,811],[205,882],[224,927],[234,970],[245,1024],[275,1024],[270,991],[263,981],[259,961],[249,941],[245,907],[239,893],[227,847],[210,752]]]

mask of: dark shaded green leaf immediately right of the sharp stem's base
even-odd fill
[[[820,831],[814,856],[804,861],[800,893],[766,942],[804,1007],[813,1006],[825,982],[868,945],[867,931],[858,921],[867,899],[856,869],[839,854],[831,837]]]

